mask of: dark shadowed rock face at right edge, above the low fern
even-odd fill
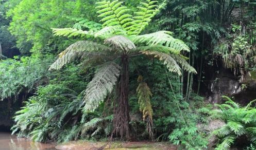
[[[211,103],[222,103],[221,96],[234,97],[234,101],[247,104],[256,99],[256,72],[248,72],[244,76],[234,76],[231,70],[220,68],[213,81],[208,85]]]

